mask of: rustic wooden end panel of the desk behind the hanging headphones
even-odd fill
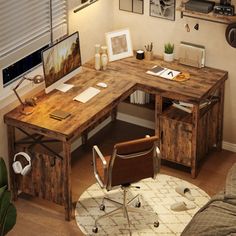
[[[24,150],[27,152],[27,150]],[[59,205],[63,198],[63,161],[40,152],[31,152],[32,169],[29,174],[17,175],[18,190]]]

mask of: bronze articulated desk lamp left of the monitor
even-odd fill
[[[25,81],[29,80],[32,81],[34,84],[40,84],[41,82],[44,81],[44,78],[42,75],[35,75],[33,78],[27,78],[23,76],[23,78],[20,80],[20,82],[16,85],[15,88],[13,88],[14,93],[16,94],[19,102],[22,105],[21,113],[23,115],[30,115],[33,113],[33,107],[36,106],[36,99],[35,98],[30,98],[30,99],[25,99],[23,102],[22,99],[20,98],[19,94],[17,93],[18,87]]]

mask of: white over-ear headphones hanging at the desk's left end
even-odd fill
[[[27,164],[24,168],[22,167],[22,164],[20,161],[16,161],[17,156],[23,156],[29,164]],[[12,168],[16,174],[22,174],[27,175],[29,171],[31,170],[31,158],[26,152],[18,152],[15,154],[13,159]]]

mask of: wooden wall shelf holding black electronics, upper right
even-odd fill
[[[177,8],[177,10],[180,11],[181,18],[189,17],[189,18],[201,19],[201,20],[210,21],[210,22],[219,23],[219,24],[230,24],[230,23],[236,22],[236,16],[217,15],[217,14],[214,14],[213,12],[205,14],[205,13],[186,10],[185,7],[179,7]]]

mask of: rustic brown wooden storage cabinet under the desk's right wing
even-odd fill
[[[217,113],[217,102],[202,108],[196,125],[192,113],[173,106],[164,110],[160,115],[162,158],[194,168],[217,143]],[[194,135],[197,135],[196,142],[193,142]],[[193,150],[196,156],[192,155]]]

